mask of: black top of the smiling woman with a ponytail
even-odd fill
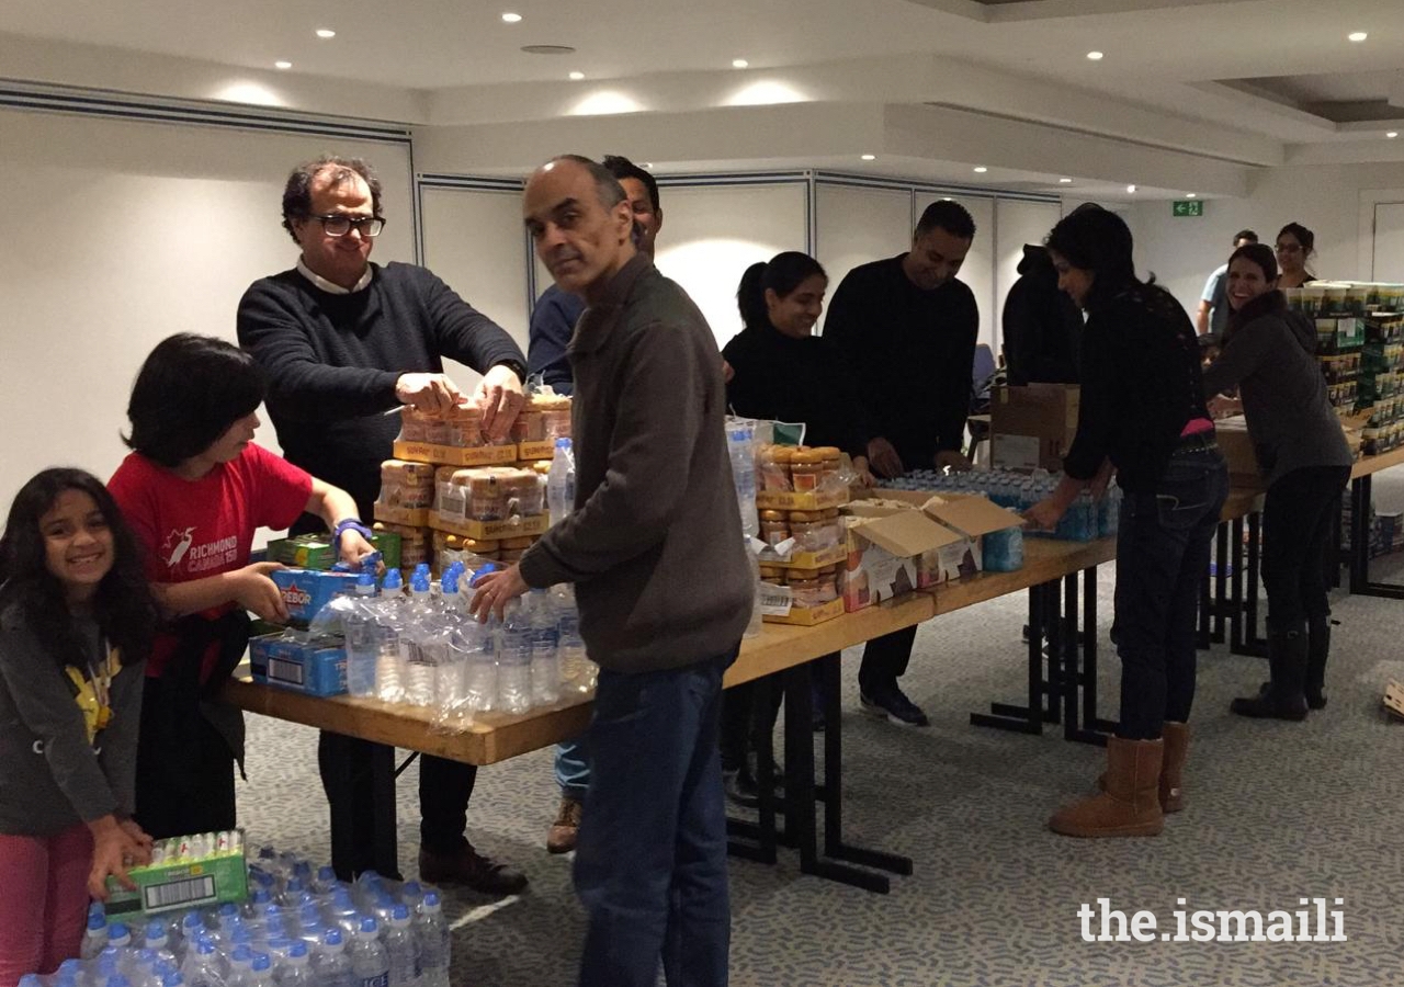
[[[797,340],[767,323],[733,336],[722,357],[736,372],[726,385],[726,400],[736,414],[803,421],[809,445],[868,455],[869,437],[852,382],[824,340]]]

